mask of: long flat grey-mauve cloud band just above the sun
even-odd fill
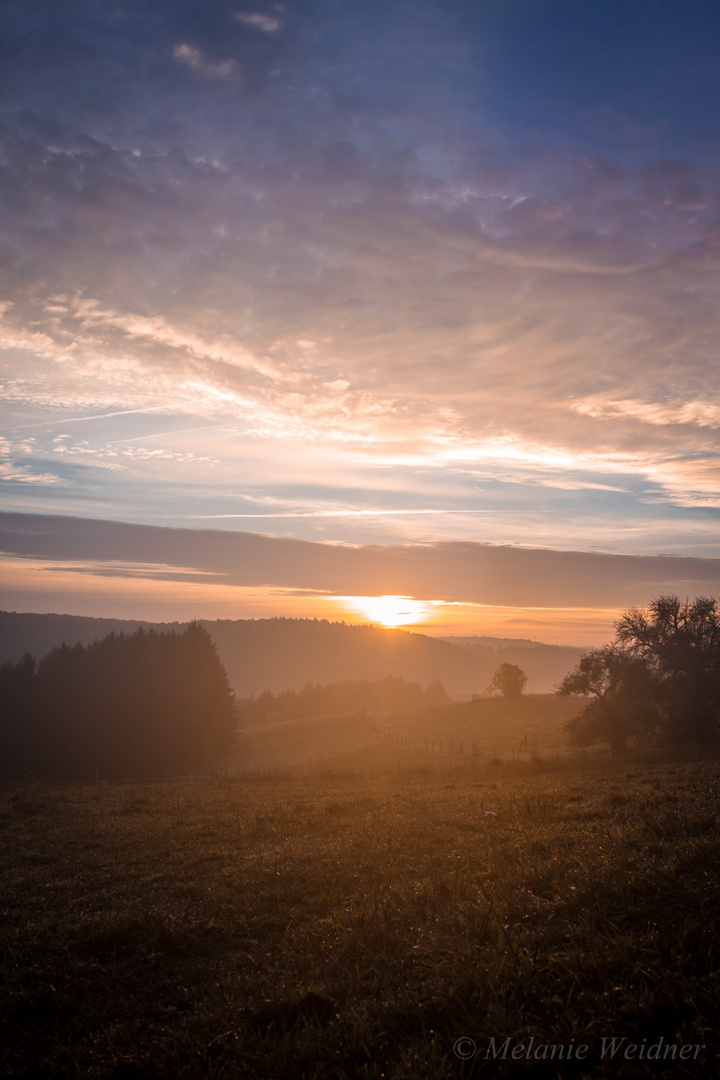
[[[6,556],[67,561],[100,572],[123,566],[191,568],[227,585],[310,589],[342,596],[518,607],[602,607],[653,595],[708,594],[720,559],[542,551],[478,543],[338,546],[249,532],[168,529],[69,517],[0,514]]]

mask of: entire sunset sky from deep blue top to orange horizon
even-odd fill
[[[2,606],[720,592],[718,55],[716,0],[4,0]]]

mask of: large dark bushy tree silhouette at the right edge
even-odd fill
[[[592,700],[570,721],[588,745],[656,740],[708,742],[720,735],[720,611],[717,600],[660,596],[615,624],[612,645],[582,657],[557,693]]]

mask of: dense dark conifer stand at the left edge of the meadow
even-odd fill
[[[232,740],[233,694],[209,634],[138,630],[0,669],[0,775],[123,780],[202,770]]]

